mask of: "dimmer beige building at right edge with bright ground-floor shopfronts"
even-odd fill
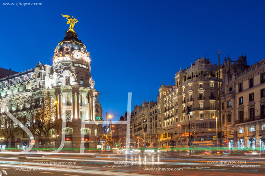
[[[247,57],[223,64],[222,129],[230,149],[265,147],[265,59],[248,66]]]

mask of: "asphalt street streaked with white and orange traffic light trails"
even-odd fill
[[[193,155],[117,152],[12,155],[0,153],[2,175],[264,175],[259,156]]]

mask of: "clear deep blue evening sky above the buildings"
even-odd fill
[[[3,0],[2,2],[14,2]],[[1,3],[2,3],[1,2]],[[246,53],[249,65],[264,54],[264,1],[47,1],[41,6],[1,4],[1,65],[14,71],[52,65],[53,51],[74,29],[92,60],[103,117],[115,120],[142,100],[156,100],[160,84],[173,84],[176,70],[207,53],[212,63]]]

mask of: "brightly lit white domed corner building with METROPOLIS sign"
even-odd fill
[[[86,147],[97,147],[97,141],[102,138],[102,109],[99,103],[99,92],[95,89],[95,82],[91,76],[89,52],[74,30],[65,33],[65,37],[54,50],[53,64],[42,65],[26,71],[12,72],[0,79],[0,119],[6,119],[4,111],[10,111],[16,116],[29,116],[23,111],[23,100],[27,94],[49,94],[51,107],[56,108],[56,117],[70,122],[65,130],[65,148],[80,148],[81,133]],[[33,64],[32,64],[33,65]],[[6,96],[10,96],[4,104]],[[56,104],[55,104],[56,103]],[[52,119],[56,118],[50,117]],[[30,118],[30,117],[29,117]],[[81,129],[82,122],[89,122]],[[28,126],[29,124],[24,124]],[[14,128],[16,126],[13,126]],[[1,123],[1,128],[8,128],[7,122]],[[62,129],[61,129],[62,130]],[[44,147],[60,145],[61,130],[51,129]],[[3,130],[2,130],[3,131]],[[18,130],[13,134],[0,134],[3,145],[20,148],[23,141],[41,146],[40,135],[34,135],[34,141],[29,140],[25,131]],[[41,135],[42,136],[42,135]]]

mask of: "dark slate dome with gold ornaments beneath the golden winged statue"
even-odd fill
[[[82,50],[87,53],[86,46],[81,42],[74,31],[67,31],[65,37],[54,50],[53,59],[63,56],[71,56],[74,50]]]

